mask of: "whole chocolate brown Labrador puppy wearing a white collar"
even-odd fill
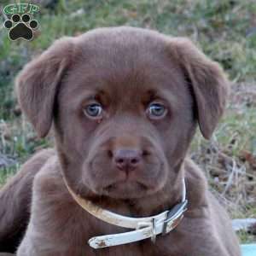
[[[28,222],[18,256],[241,255],[230,218],[186,157],[197,124],[211,137],[229,90],[189,39],[132,27],[62,38],[16,85],[38,135],[53,124],[56,148],[1,191],[6,252]]]

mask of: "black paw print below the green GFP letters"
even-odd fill
[[[3,26],[9,29],[9,38],[13,41],[23,38],[27,41],[32,40],[33,32],[38,29],[38,21],[31,20],[30,15],[12,15],[10,20],[5,20]]]

